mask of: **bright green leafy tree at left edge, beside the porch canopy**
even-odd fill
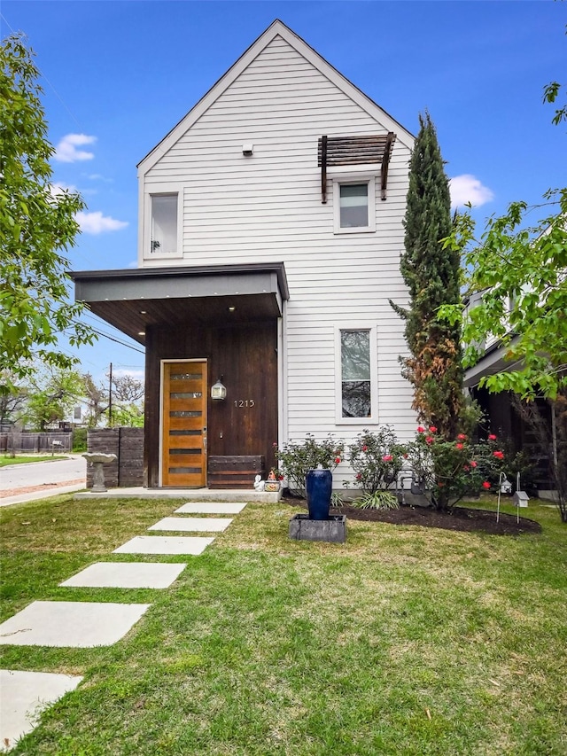
[[[95,336],[77,323],[82,305],[68,298],[60,250],[74,245],[84,204],[51,184],[53,148],[33,53],[12,35],[0,46],[0,62],[0,370],[23,377],[33,355],[59,368],[77,362],[58,349],[62,331],[73,345]]]

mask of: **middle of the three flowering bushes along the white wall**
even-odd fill
[[[390,425],[372,432],[364,429],[348,448],[356,487],[369,494],[392,486],[404,464],[406,448]]]

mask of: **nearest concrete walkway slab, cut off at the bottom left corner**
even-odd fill
[[[40,714],[81,681],[72,674],[0,669],[0,751],[35,729]]]

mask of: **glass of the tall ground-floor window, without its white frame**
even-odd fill
[[[371,417],[370,333],[341,331],[342,417]]]

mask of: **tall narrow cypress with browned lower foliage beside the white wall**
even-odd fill
[[[411,356],[400,358],[402,375],[414,386],[413,408],[421,422],[454,438],[463,406],[461,328],[439,320],[440,305],[460,301],[459,253],[444,249],[451,231],[451,199],[437,133],[429,113],[419,117],[420,131],[410,161],[405,252],[400,271],[408,285],[410,306],[392,307],[406,321]]]

